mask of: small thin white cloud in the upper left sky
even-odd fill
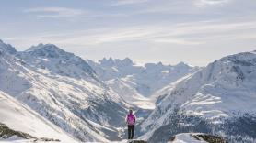
[[[85,10],[66,7],[35,7],[26,9],[26,13],[36,13],[38,17],[78,17],[87,14]]]

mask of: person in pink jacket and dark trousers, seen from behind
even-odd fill
[[[133,110],[129,110],[129,114],[126,115],[126,124],[128,126],[128,140],[134,138],[134,126],[136,123],[136,116],[133,114]]]

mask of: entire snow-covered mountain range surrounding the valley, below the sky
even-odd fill
[[[140,65],[84,60],[53,44],[17,51],[0,40],[0,124],[16,133],[0,138],[122,141],[132,107],[136,137],[148,142],[188,132],[253,142],[255,82],[256,51],[206,67]]]

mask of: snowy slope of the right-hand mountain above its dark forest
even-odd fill
[[[166,90],[163,99],[160,99],[156,109],[141,126],[142,131],[151,131],[144,137],[152,136],[153,139],[158,131],[167,130],[163,127],[171,126],[171,122],[174,122],[171,119],[179,116],[180,113],[195,118],[198,116],[214,125],[237,115],[255,115],[255,82],[255,52],[239,53],[215,60],[203,70],[197,71],[177,82],[175,87],[171,86]],[[181,120],[178,118],[180,120],[178,122],[186,120],[184,116],[181,118]],[[253,117],[250,119],[254,124]]]

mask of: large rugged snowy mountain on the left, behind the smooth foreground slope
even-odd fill
[[[121,138],[127,104],[85,60],[54,45],[1,52],[0,90],[81,141]]]

